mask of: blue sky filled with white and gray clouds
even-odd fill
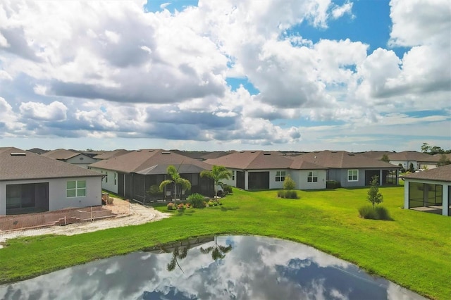
[[[0,146],[451,149],[448,0],[0,2]]]

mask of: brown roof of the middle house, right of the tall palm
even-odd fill
[[[240,170],[326,169],[320,165],[302,161],[298,157],[284,156],[278,151],[240,151],[220,158],[208,159],[205,162],[211,165],[223,165],[226,168]]]

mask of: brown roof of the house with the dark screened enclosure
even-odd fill
[[[178,173],[199,173],[211,170],[211,166],[194,158],[162,149],[141,149],[127,154],[92,163],[92,168],[115,170],[122,173],[166,174],[169,165],[178,168]]]

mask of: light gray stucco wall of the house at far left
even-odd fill
[[[86,180],[86,196],[70,197],[66,195],[69,180]],[[71,177],[42,180],[11,180],[0,182],[0,215],[6,215],[6,185],[49,182],[49,211],[68,207],[86,207],[101,205],[101,177]]]

